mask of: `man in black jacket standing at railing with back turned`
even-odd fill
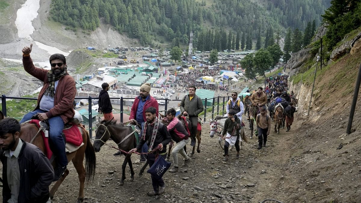
[[[108,94],[109,84],[104,82],[103,84],[101,84],[101,88],[103,88],[103,90],[99,92],[98,112],[103,112],[104,120],[109,121],[112,120],[112,118],[114,118],[112,113],[113,107],[112,104],[110,103],[110,98]]]

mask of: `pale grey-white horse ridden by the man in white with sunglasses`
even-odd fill
[[[216,119],[212,120],[209,125],[210,125],[210,133],[209,133],[209,137],[213,138],[214,134],[218,134],[219,138],[218,138],[218,143],[219,146],[222,148],[222,150],[224,150],[224,144],[222,144],[222,133],[223,133],[223,129],[225,126],[225,122],[226,119],[228,117],[222,117],[222,116],[216,116]],[[219,131],[217,130],[219,128]],[[243,141],[247,142],[247,138],[244,134],[244,128],[241,129],[240,131],[240,136],[241,136],[241,146],[240,149],[242,149],[243,146]]]

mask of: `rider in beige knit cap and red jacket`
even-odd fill
[[[149,107],[156,108],[156,116],[158,117],[158,102],[149,94],[149,92],[151,92],[151,84],[144,83],[140,86],[139,96],[135,98],[130,110],[129,123],[135,124],[135,121],[137,121],[142,126],[142,129],[144,128],[144,123],[147,120],[145,118],[145,109]],[[139,138],[142,137],[142,131],[140,131],[141,133],[139,134]],[[143,145],[142,152],[148,152],[147,144]],[[120,152],[115,153],[114,156],[120,156]],[[140,155],[140,161],[145,162],[147,159],[144,155]]]

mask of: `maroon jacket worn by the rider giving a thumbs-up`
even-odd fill
[[[38,109],[40,108],[40,100],[50,84],[47,77],[49,70],[36,68],[32,63],[30,56],[23,56],[23,66],[27,73],[44,82],[44,86],[38,95],[38,105],[35,108]],[[73,118],[75,114],[73,101],[76,93],[77,89],[75,88],[75,81],[73,77],[70,75],[64,75],[61,77],[55,91],[54,107],[46,113],[48,118],[60,116],[64,123],[67,123],[69,119]]]

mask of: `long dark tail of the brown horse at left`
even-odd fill
[[[89,133],[87,130],[85,131],[87,133],[87,147],[85,149],[85,170],[86,170],[86,181],[87,183],[89,183],[91,179],[94,180],[96,156],[95,156],[93,144],[90,142]]]

